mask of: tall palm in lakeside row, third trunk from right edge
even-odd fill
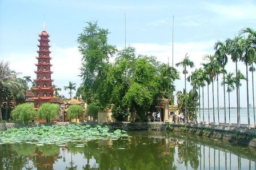
[[[237,80],[237,62],[238,59],[242,56],[242,50],[241,50],[241,37],[235,37],[234,39],[226,39],[226,46],[227,46],[227,53],[229,55],[231,55],[231,59],[233,60],[233,62],[235,62],[235,77]],[[240,112],[239,112],[239,103],[238,103],[238,82],[235,82],[235,87],[237,90],[237,124],[240,127]]]

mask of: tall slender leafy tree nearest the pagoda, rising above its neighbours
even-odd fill
[[[78,49],[82,54],[81,78],[87,103],[92,99],[101,100],[99,92],[104,90],[106,74],[109,70],[109,58],[116,48],[107,42],[109,30],[98,27],[97,22],[86,22],[87,27],[78,37]]]

